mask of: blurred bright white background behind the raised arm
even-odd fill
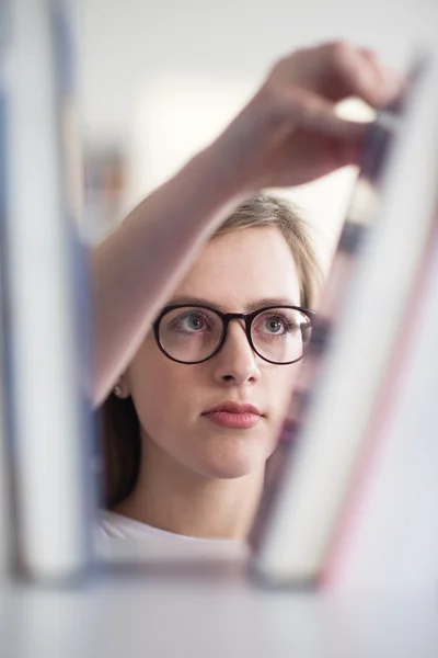
[[[437,48],[437,0],[70,0],[87,171],[87,236],[96,241],[211,140],[283,54],[323,41],[376,48],[403,70]],[[361,107],[350,107],[362,116]],[[287,194],[328,263],[355,172]]]

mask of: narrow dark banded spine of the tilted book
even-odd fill
[[[292,392],[278,445],[267,463],[264,491],[250,535],[250,544],[255,553],[263,551],[264,541],[273,522],[273,511],[281,496],[286,472],[293,460],[295,447],[300,440],[311,398],[318,393],[319,378],[332,341],[333,328],[346,304],[348,284],[357,261],[366,249],[367,235],[377,209],[380,169],[390,141],[391,131],[385,124],[381,125],[376,121],[369,129],[360,175],[341,232],[321,307],[314,320],[309,351],[306,354],[299,382]]]

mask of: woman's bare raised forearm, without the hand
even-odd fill
[[[140,203],[92,254],[94,402],[141,344],[198,249],[239,202],[210,149]]]

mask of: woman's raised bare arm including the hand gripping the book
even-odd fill
[[[280,60],[218,139],[148,196],[92,254],[94,402],[139,348],[160,305],[230,209],[253,192],[356,162],[365,127],[337,101],[384,105],[400,79],[366,49],[327,44]]]

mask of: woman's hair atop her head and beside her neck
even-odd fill
[[[309,229],[297,208],[284,198],[257,194],[241,203],[212,239],[245,228],[277,227],[292,253],[300,280],[300,305],[314,308],[322,281]],[[104,494],[108,508],[134,489],[140,466],[141,440],[132,399],[110,395],[103,406]]]

